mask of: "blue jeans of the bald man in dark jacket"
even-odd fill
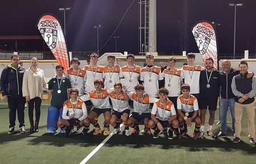
[[[227,131],[228,131],[226,126],[226,114],[228,113],[228,108],[230,109],[230,113],[232,116],[232,135],[234,135],[235,133],[234,103],[235,103],[234,98],[230,98],[230,99],[221,98],[220,100],[221,132],[224,133],[225,135],[227,134]]]

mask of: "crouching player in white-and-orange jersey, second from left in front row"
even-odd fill
[[[104,132],[103,135],[109,135],[109,122],[111,118],[111,109],[109,103],[109,93],[106,89],[102,89],[104,86],[104,83],[101,79],[94,80],[94,86],[96,90],[92,90],[90,93],[85,94],[84,96],[81,96],[82,101],[88,101],[90,100],[93,103],[93,110],[90,111],[88,118],[90,120],[90,123],[93,124],[95,131],[93,132],[93,135],[98,135],[101,131],[100,125],[97,123],[97,118],[101,114],[104,114]]]

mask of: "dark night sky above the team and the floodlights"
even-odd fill
[[[66,12],[66,31],[69,51],[96,51],[97,31],[101,24],[100,49],[113,33],[126,9],[133,0],[27,0],[0,1],[0,35],[39,35],[36,22],[44,13],[51,13],[64,25],[60,7],[72,7]],[[158,0],[157,2],[157,51],[164,54],[181,54],[178,21],[183,18],[183,1]],[[215,21],[219,54],[233,53],[234,7],[228,3],[243,3],[237,7],[236,53],[256,49],[256,1],[191,0],[188,8],[189,30],[199,20]],[[138,53],[138,1],[135,0],[114,36],[119,36],[118,51]],[[101,49],[101,54],[115,51],[112,37]],[[189,32],[188,51],[199,52],[192,32]]]

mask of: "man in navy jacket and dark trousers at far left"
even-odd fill
[[[8,102],[9,106],[9,131],[14,133],[16,110],[18,111],[18,120],[20,133],[25,133],[24,124],[24,106],[26,103],[25,98],[22,96],[22,81],[24,71],[26,69],[19,65],[19,56],[12,55],[11,63],[3,69],[1,74],[1,93],[3,101]]]

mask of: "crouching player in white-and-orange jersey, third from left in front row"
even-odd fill
[[[129,136],[129,126],[127,125],[127,120],[130,114],[129,100],[126,100],[126,93],[122,93],[122,84],[117,82],[114,84],[114,92],[109,94],[110,100],[112,101],[113,111],[110,119],[110,124],[114,127],[113,134],[117,134],[120,131],[121,116],[123,124],[125,125],[125,130],[123,134]]]

